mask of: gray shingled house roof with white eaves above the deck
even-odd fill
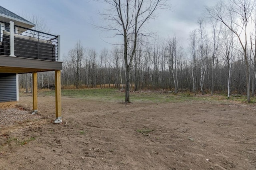
[[[24,26],[26,28],[32,28],[36,26],[32,22],[22,18],[21,16],[18,16],[17,14],[14,14],[2,6],[0,6],[0,19],[2,19],[4,22],[13,21],[16,25]]]

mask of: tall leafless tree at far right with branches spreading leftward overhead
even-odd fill
[[[224,4],[224,2],[218,2],[214,7],[206,9],[212,18],[222,22],[229,30],[231,30],[237,36],[238,41],[240,42],[242,47],[241,52],[244,55],[244,62],[246,65],[247,101],[250,102],[250,61],[247,54],[247,26],[251,20],[252,12],[255,8],[255,1],[229,0],[229,2],[229,5]],[[230,24],[230,15],[234,17],[234,20],[231,20],[231,24],[236,25],[236,27],[232,27]]]

